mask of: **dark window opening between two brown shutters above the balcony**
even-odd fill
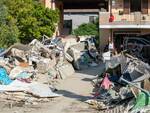
[[[130,12],[141,12],[141,0],[130,1]]]

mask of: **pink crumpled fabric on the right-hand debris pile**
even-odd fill
[[[104,89],[110,89],[110,86],[112,86],[112,82],[108,79],[108,74],[106,74],[101,83],[101,87]]]

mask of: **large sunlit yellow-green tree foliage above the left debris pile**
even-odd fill
[[[56,23],[59,21],[58,10],[45,8],[37,0],[1,0],[2,5],[8,13],[4,20],[11,21],[9,25],[3,26],[5,30],[1,29],[3,35],[11,36],[6,36],[5,40],[8,42],[15,43],[20,40],[22,43],[29,43],[35,38],[40,39],[44,34],[52,36],[55,32]]]

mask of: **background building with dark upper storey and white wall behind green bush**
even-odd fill
[[[106,0],[62,0],[64,8],[63,34],[69,34],[82,23],[95,21],[99,10],[108,11]],[[105,9],[104,9],[105,8]]]

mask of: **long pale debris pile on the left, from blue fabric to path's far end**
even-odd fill
[[[89,57],[85,44],[67,43],[70,41],[63,43],[59,37],[46,37],[41,42],[34,39],[28,45],[15,44],[7,50],[2,50],[0,101],[35,104],[39,101],[49,101],[49,97],[61,96],[53,92],[56,90],[55,83],[72,75],[75,72],[74,67],[80,69],[78,61],[83,53],[88,57],[86,60],[91,59],[86,63],[91,64],[94,63],[92,60],[96,60]],[[94,52],[91,54],[95,54]],[[83,57],[82,62],[85,62]]]

